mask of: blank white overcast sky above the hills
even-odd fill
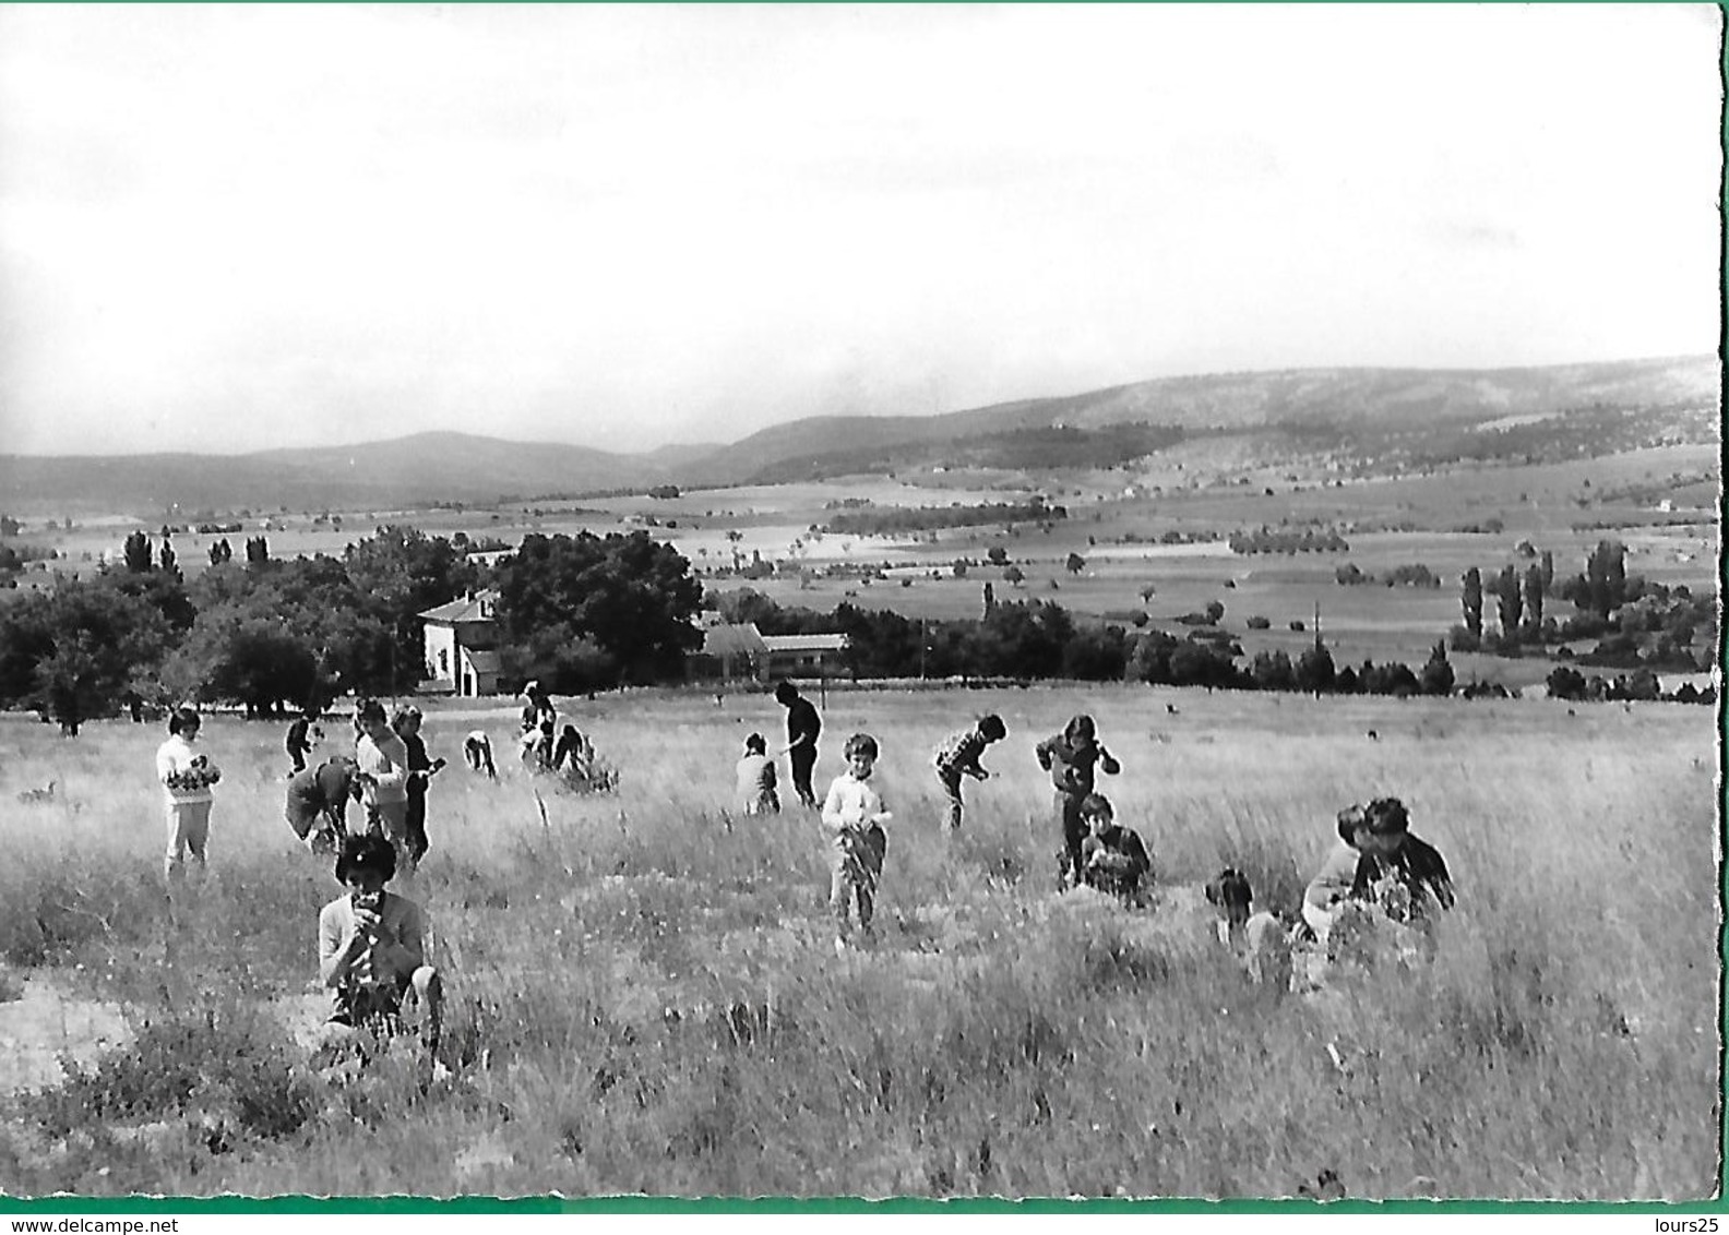
[[[0,451],[1717,347],[1713,7],[0,5]]]

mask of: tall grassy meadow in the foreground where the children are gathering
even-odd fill
[[[431,1083],[399,1048],[344,1083],[306,1069],[296,1017],[339,888],[282,819],[280,725],[206,724],[213,871],[166,957],[159,727],[0,720],[0,1024],[47,983],[131,1026],[59,1085],[0,1095],[5,1188],[1278,1197],[1323,1169],[1354,1197],[1717,1187],[1710,710],[835,691],[818,784],[868,729],[896,812],[877,940],[840,957],[814,815],[731,812],[743,736],[783,732],[768,696],[565,710],[617,795],[527,776],[507,708],[429,713],[453,767],[405,891],[448,981],[450,1074]],[[930,748],[989,710],[1010,736],[949,836]],[[1459,884],[1435,964],[1307,1000],[1248,983],[1198,926],[1143,929],[1165,910],[1053,895],[1032,744],[1081,710],[1167,886],[1233,864],[1262,907],[1295,909],[1335,812],[1404,798]],[[477,725],[496,784],[460,762]],[[52,803],[19,805],[50,779]]]

